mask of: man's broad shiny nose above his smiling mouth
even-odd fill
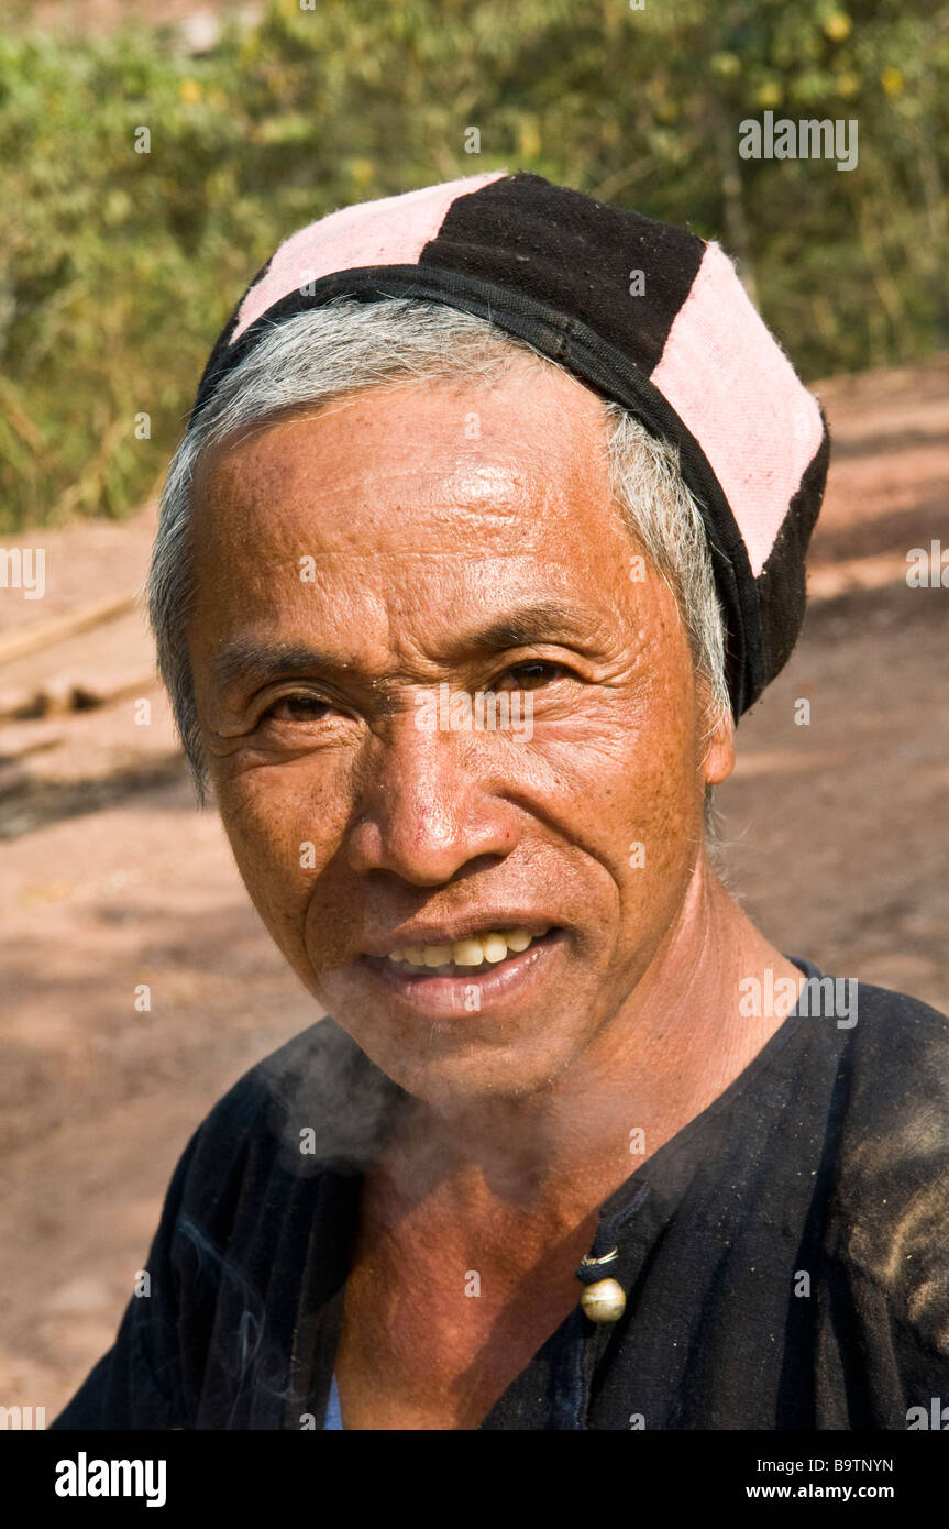
[[[484,739],[423,731],[414,717],[397,717],[361,761],[351,868],[436,887],[472,859],[509,855],[517,812],[500,792],[500,763]]]

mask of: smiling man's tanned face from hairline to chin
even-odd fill
[[[222,448],[196,500],[197,706],[267,930],[410,1092],[541,1087],[669,939],[730,769],[598,401],[530,361],[367,393]],[[532,726],[426,717],[442,685]],[[498,963],[388,959],[513,930]]]

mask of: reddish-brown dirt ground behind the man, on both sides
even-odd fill
[[[949,1011],[949,589],[906,584],[909,549],[949,561],[949,356],[818,391],[811,605],[741,722],[730,884],[781,950]],[[44,535],[44,599],[0,590],[0,1402],[47,1420],[112,1342],[188,1136],[318,1012],[194,807],[133,604],[153,521]]]

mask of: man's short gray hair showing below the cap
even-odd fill
[[[518,356],[556,367],[526,341],[487,320],[439,303],[338,300],[278,324],[217,384],[189,425],[165,483],[148,576],[148,612],[159,671],[203,801],[206,764],[185,630],[193,602],[191,488],[203,453],[286,410],[322,408],[344,396],[406,381],[491,385]],[[572,373],[561,375],[582,387]],[[616,503],[649,563],[668,583],[683,621],[695,673],[709,696],[708,734],[730,716],[724,625],[701,511],[686,488],[675,450],[657,440],[619,404],[604,402],[608,468]],[[714,832],[711,790],[706,836]]]

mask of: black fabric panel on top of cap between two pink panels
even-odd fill
[[[518,171],[457,197],[419,263],[524,292],[579,318],[653,372],[704,251],[685,228]],[[645,278],[636,297],[634,271]]]

